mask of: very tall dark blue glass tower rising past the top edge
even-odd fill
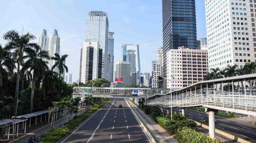
[[[166,53],[185,46],[197,48],[195,0],[162,0],[163,67],[166,77]]]

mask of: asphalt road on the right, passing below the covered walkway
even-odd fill
[[[173,108],[173,111],[177,109],[181,110],[181,108]],[[190,110],[185,108],[185,117],[190,118],[192,120],[198,121],[205,125],[209,125],[209,123],[203,121],[203,118],[208,116],[205,112]],[[218,130],[222,130],[231,135],[237,136],[244,140],[251,141],[256,143],[256,126],[253,124],[248,124],[243,121],[238,121],[232,118],[225,118],[221,116],[215,116],[217,123],[215,124],[215,128]]]

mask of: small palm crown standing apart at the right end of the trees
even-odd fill
[[[52,70],[56,67],[59,69],[59,78],[61,77],[61,74],[64,72],[64,68],[66,69],[66,72],[68,72],[68,67],[64,64],[64,61],[68,57],[68,55],[59,56],[58,53],[54,53],[55,57],[51,57],[52,60],[55,60],[55,64],[52,67]]]

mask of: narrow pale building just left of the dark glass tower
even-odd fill
[[[152,61],[152,88],[163,88],[159,86],[161,78],[158,75],[163,75],[161,60]]]

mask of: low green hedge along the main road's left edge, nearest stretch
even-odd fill
[[[65,127],[55,128],[47,133],[44,133],[41,137],[44,138],[41,143],[55,143],[59,141],[63,136],[68,134],[73,128],[79,125],[83,120],[88,118],[88,115],[81,114],[78,115],[75,119],[68,121],[68,124]]]

